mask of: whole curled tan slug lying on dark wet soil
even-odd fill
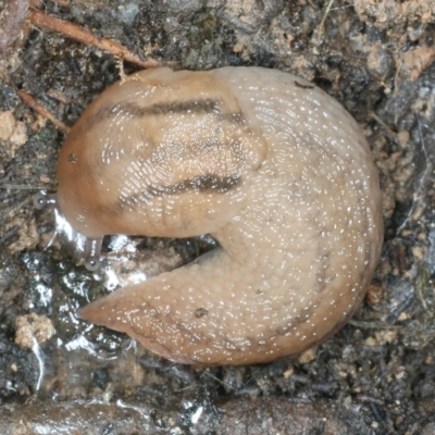
[[[221,247],[80,310],[183,363],[245,364],[321,343],[364,296],[381,192],[353,119],[260,67],[137,73],[98,97],[58,163],[72,226]]]

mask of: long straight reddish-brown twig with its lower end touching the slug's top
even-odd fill
[[[30,9],[28,11],[28,20],[35,26],[45,27],[50,30],[58,32],[83,44],[91,45],[102,50],[109,51],[113,55],[135,63],[136,65],[142,67],[162,66],[161,62],[156,61],[154,59],[142,61],[138,55],[132,53],[126,47],[122,46],[121,44],[117,44],[108,38],[96,38],[90,32],[85,30],[82,27],[78,27],[77,25],[72,24],[67,21],[57,18],[52,15],[47,15],[41,11]]]

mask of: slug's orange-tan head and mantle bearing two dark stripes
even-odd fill
[[[144,71],[102,92],[71,130],[58,200],[88,237],[188,237],[243,207],[266,145],[210,73]]]

